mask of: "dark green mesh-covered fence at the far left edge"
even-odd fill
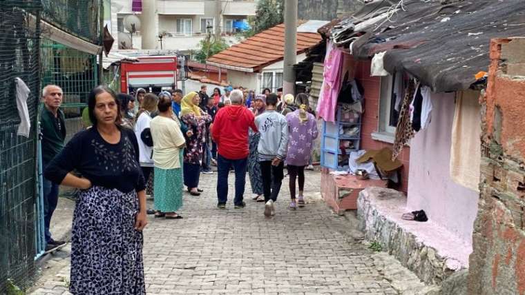
[[[29,14],[39,23],[40,10],[39,1],[4,0],[0,6],[0,294],[8,279],[27,287],[35,273],[40,32]],[[17,135],[15,78],[31,91],[29,138]]]

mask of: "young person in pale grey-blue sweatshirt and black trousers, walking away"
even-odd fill
[[[266,111],[255,119],[260,132],[258,161],[262,174],[262,189],[265,194],[265,216],[275,214],[274,202],[284,178],[284,163],[288,144],[288,126],[285,116],[276,112],[277,96],[266,98]]]

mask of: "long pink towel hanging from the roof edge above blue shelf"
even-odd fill
[[[323,72],[323,85],[319,93],[317,115],[327,122],[335,122],[337,96],[341,90],[343,72],[343,51],[332,41],[327,41]]]

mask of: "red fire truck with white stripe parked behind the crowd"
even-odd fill
[[[120,89],[130,93],[137,88],[160,92],[163,88],[177,88],[177,81],[187,79],[186,59],[183,55],[140,56],[137,61],[120,66]]]

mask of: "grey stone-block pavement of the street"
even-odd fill
[[[201,196],[184,194],[184,219],[150,218],[144,231],[148,294],[421,294],[425,287],[388,254],[350,236],[347,218],[321,200],[319,172],[307,172],[308,203],[297,211],[287,210],[286,178],[272,218],[250,199],[249,181],[247,207],[233,209],[230,200],[218,210],[216,177],[201,175]],[[232,195],[233,174],[229,180]],[[69,251],[42,263],[30,294],[68,294]]]

